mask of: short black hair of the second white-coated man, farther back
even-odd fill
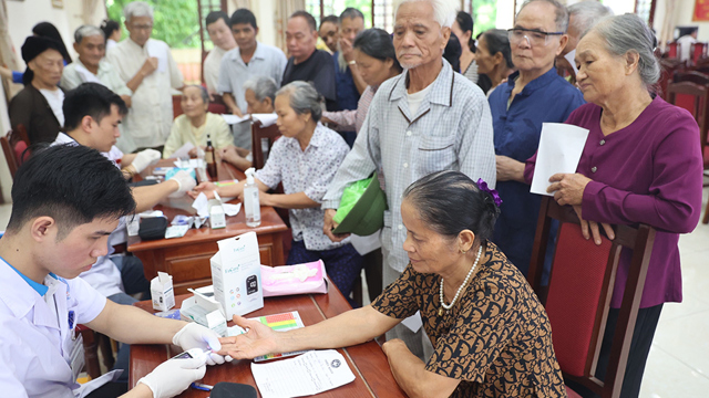
[[[121,115],[129,113],[123,98],[102,84],[83,83],[68,92],[62,106],[66,132],[79,127],[84,116],[91,116],[96,123],[101,123],[104,116],[111,114],[111,105],[116,105]]]

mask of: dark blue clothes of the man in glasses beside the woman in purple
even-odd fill
[[[510,76],[490,96],[495,153],[518,161],[531,158],[540,146],[542,123],[563,123],[584,104],[580,91],[552,67],[507,100],[520,72]],[[542,197],[530,193],[530,186],[517,181],[497,181],[503,202],[495,224],[493,242],[526,275],[532,258],[534,233]]]

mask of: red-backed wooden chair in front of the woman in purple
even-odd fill
[[[558,220],[558,240],[548,289],[542,287],[542,270],[552,220]],[[580,232],[574,210],[553,198],[542,199],[527,281],[544,303],[554,334],[554,352],[565,380],[573,380],[602,398],[620,397],[645,277],[655,242],[655,229],[615,226],[616,238],[598,247]],[[613,286],[621,250],[633,258],[614,332],[604,381],[595,377],[606,328]],[[578,395],[567,387],[569,397]]]

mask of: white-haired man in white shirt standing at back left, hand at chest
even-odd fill
[[[124,153],[160,148],[173,124],[172,88],[184,86],[182,72],[163,41],[151,39],[153,8],[143,1],[123,9],[130,36],[111,49],[107,60],[133,91],[131,111],[123,119],[125,134],[116,146]]]

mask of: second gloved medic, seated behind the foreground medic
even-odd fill
[[[115,147],[115,142],[121,135],[117,126],[126,112],[125,103],[117,94],[99,83],[83,83],[66,93],[64,115],[68,133],[60,133],[54,145],[86,146],[100,150],[116,167],[119,164],[129,163],[129,170],[143,169],[160,159],[160,153],[145,149],[137,155],[123,156]],[[137,203],[136,210],[150,210],[168,196],[182,196],[194,186],[194,178],[186,172],[178,172],[167,181],[135,187],[132,192]],[[107,254],[99,256],[93,266],[80,276],[110,301],[130,305],[137,301],[133,297],[134,294],[142,294],[143,298],[148,297],[150,282],[145,279],[143,263],[138,258],[114,255],[113,247],[126,241],[127,221],[121,218],[121,223],[109,237]],[[129,348],[124,345],[119,349],[114,368],[127,370],[127,366]],[[127,371],[121,380],[127,381],[126,377]]]

